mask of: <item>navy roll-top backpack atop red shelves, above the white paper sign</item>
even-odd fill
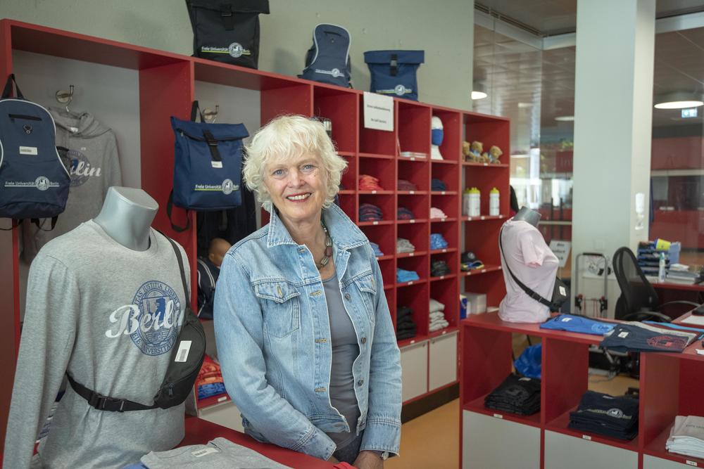
[[[369,91],[418,101],[415,74],[424,60],[424,51],[366,51],[364,61],[372,75]]]

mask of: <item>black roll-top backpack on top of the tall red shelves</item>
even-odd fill
[[[259,15],[269,0],[186,0],[193,28],[193,55],[257,68]]]

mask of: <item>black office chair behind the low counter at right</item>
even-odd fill
[[[687,304],[692,308],[699,305],[684,300],[660,304],[658,293],[641,271],[636,256],[629,248],[618,248],[613,257],[613,268],[621,295],[616,302],[615,318],[622,321],[656,321],[669,323],[670,316],[659,309],[668,304]]]

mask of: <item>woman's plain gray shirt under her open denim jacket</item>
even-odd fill
[[[357,397],[354,393],[352,364],[359,356],[357,333],[345,310],[337,282],[337,275],[322,281],[330,318],[332,339],[332,367],[330,369],[330,402],[347,420],[351,432],[330,432],[327,436],[344,448],[356,438],[357,420],[360,417]]]

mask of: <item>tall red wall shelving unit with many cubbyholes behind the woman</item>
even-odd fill
[[[166,201],[171,187],[173,168],[173,135],[169,117],[175,115],[187,119],[191,101],[199,98],[196,82],[224,86],[227,92],[254,91],[259,94],[260,124],[269,122],[282,114],[301,114],[329,119],[332,122],[332,139],[341,157],[348,162],[343,174],[339,193],[341,208],[360,226],[370,240],[379,244],[384,255],[378,257],[384,278],[384,294],[389,303],[391,318],[396,323],[396,307],[410,306],[418,333],[411,340],[399,342],[402,355],[411,356],[410,368],[405,376],[426,373],[425,388],[417,388],[407,401],[415,400],[433,390],[457,383],[457,332],[459,323],[458,295],[469,284],[459,270],[460,252],[466,245],[482,257],[484,262],[497,262],[496,255],[489,255],[491,243],[482,243],[474,238],[493,236],[500,221],[472,224],[472,229],[463,219],[460,210],[461,193],[468,181],[484,181],[500,188],[502,214],[508,207],[508,168],[474,167],[462,163],[463,139],[481,139],[486,148],[498,144],[508,155],[508,120],[462,110],[434,107],[403,99],[394,101],[394,131],[366,129],[363,125],[363,93],[309,82],[296,77],[287,77],[261,70],[251,70],[234,65],[215,63],[201,58],[180,56],[174,53],[146,49],[144,47],[89,37],[73,32],[20,23],[14,20],[0,22],[0,74],[6,76],[13,71],[13,51],[28,51],[46,56],[82,60],[87,63],[111,65],[136,70],[139,74],[139,148],[141,150],[140,172],[142,188],[155,198],[159,210],[153,223],[181,243],[191,262],[191,285],[196,284],[196,226],[191,214],[191,229],[183,233],[172,231],[165,214]],[[51,74],[46,70],[37,72],[37,79],[50,84]],[[89,106],[90,103],[84,103]],[[437,115],[444,123],[444,142],[440,148],[444,160],[431,160],[430,123]],[[249,125],[248,127],[251,127]],[[251,134],[256,128],[249,128]],[[427,158],[401,157],[401,151],[424,153]],[[481,174],[479,174],[481,173]],[[359,176],[370,174],[379,178],[382,190],[360,191]],[[398,191],[398,179],[407,179],[417,187],[416,191]],[[431,179],[441,179],[446,191],[432,191]],[[477,183],[478,184],[478,183]],[[475,184],[476,185],[476,184]],[[505,187],[504,187],[505,186]],[[482,185],[482,191],[488,190]],[[382,221],[359,221],[359,207],[363,203],[379,206],[384,213]],[[488,203],[488,202],[487,202]],[[413,220],[397,220],[398,207],[408,207],[415,214]],[[438,207],[447,217],[429,219],[430,208]],[[185,221],[185,212],[175,210],[177,221]],[[263,223],[268,214],[263,213]],[[2,222],[3,227],[8,225]],[[482,229],[481,226],[490,226]],[[464,229],[464,234],[463,234]],[[430,233],[442,233],[448,241],[447,250],[429,251]],[[470,236],[471,232],[471,236]],[[498,231],[496,231],[498,232]],[[397,255],[396,239],[408,238],[416,246],[413,255]],[[496,246],[494,246],[496,248]],[[498,252],[498,250],[496,251]],[[11,276],[0,276],[0,302],[4,314],[0,314],[0,362],[10,371],[0,384],[0,428],[4,432],[5,421],[11,399],[13,371],[20,338],[20,273],[18,231],[0,231],[0,262],[12,269]],[[432,259],[445,259],[451,274],[430,277]],[[396,268],[412,269],[421,280],[413,283],[396,282]],[[500,277],[496,276],[496,280]],[[503,282],[499,282],[502,283]],[[486,291],[492,301],[498,298],[498,290],[491,282],[472,281],[472,291]],[[430,297],[446,304],[446,318],[450,327],[429,333],[428,300]],[[192,306],[196,305],[196,290],[191,295]],[[454,344],[448,346],[448,344]],[[411,352],[410,348],[420,345]],[[408,350],[407,350],[408,347]],[[425,348],[423,348],[425,347]],[[418,352],[421,350],[421,352]],[[422,359],[425,350],[425,372]],[[408,354],[406,354],[408,352]],[[449,353],[452,352],[452,353]],[[444,360],[444,361],[443,361]],[[421,360],[422,361],[422,360]],[[405,362],[404,362],[405,363]],[[436,370],[443,373],[439,375]],[[447,372],[447,373],[445,373]],[[444,376],[444,378],[443,378]],[[440,383],[438,383],[440,380]],[[433,384],[435,383],[435,384]],[[406,387],[406,383],[404,383]],[[226,399],[227,400],[227,399]],[[217,404],[217,399],[206,399],[198,403],[199,408]],[[0,433],[4,440],[4,433]]]

